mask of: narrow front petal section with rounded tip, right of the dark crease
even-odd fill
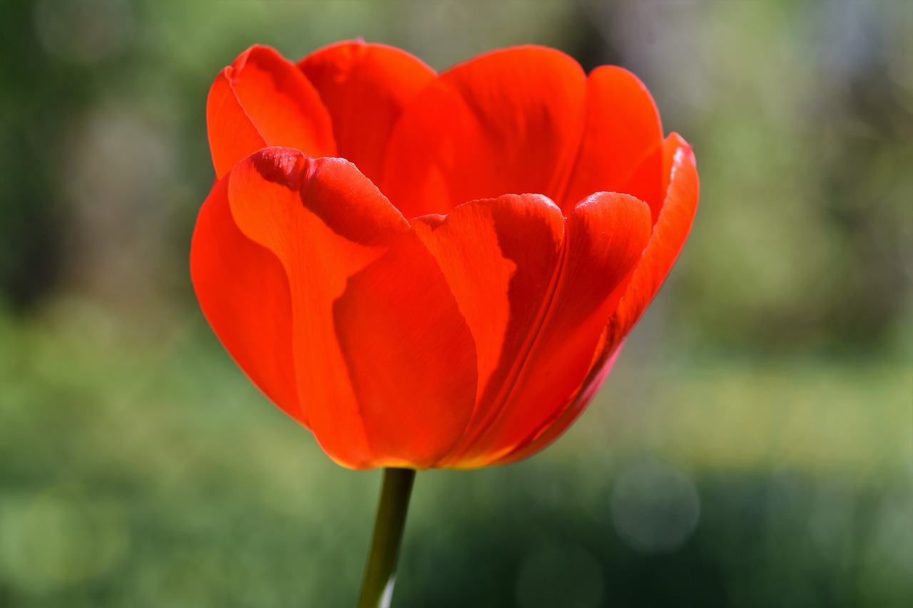
[[[488,407],[479,407],[447,466],[485,466],[554,421],[593,366],[605,322],[650,234],[648,207],[594,194],[567,218],[562,258],[538,322]]]

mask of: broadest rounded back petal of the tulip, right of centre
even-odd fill
[[[381,189],[406,217],[501,194],[554,199],[579,146],[585,83],[572,58],[541,47],[451,68],[394,127]]]

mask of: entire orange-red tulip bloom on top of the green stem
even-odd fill
[[[593,397],[698,204],[643,84],[561,52],[441,74],[344,42],[215,79],[194,288],[251,380],[344,466],[530,456]]]

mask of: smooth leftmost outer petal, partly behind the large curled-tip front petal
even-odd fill
[[[289,281],[278,258],[238,230],[227,179],[215,183],[200,209],[190,272],[226,351],[274,404],[307,425],[295,383]]]

